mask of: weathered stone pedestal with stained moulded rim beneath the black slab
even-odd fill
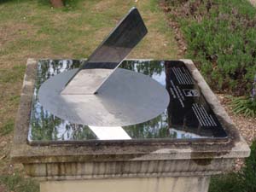
[[[41,192],[207,192],[209,177],[250,154],[247,143],[192,61],[183,60],[228,138],[150,142],[27,142],[37,61],[27,61],[15,122],[14,162],[41,181]]]

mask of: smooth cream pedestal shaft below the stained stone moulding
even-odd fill
[[[210,177],[133,177],[47,181],[40,192],[207,192]]]

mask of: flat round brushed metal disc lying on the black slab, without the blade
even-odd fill
[[[97,94],[61,95],[61,90],[77,70],[55,75],[45,81],[38,92],[44,109],[71,123],[135,125],[155,118],[169,104],[169,94],[164,86],[142,73],[121,68],[110,76]],[[84,82],[89,80],[87,76],[83,78]]]

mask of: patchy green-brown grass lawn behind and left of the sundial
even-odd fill
[[[177,58],[177,44],[157,0],[67,0],[52,9],[46,0],[0,0],[0,191],[38,190],[9,160],[26,59],[87,57],[137,6],[148,35],[130,58]],[[21,172],[21,173],[17,173]],[[20,177],[21,176],[21,177]]]

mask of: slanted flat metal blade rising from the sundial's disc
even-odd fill
[[[136,8],[132,8],[89,59],[84,61],[61,94],[95,94],[147,32],[143,18]]]

